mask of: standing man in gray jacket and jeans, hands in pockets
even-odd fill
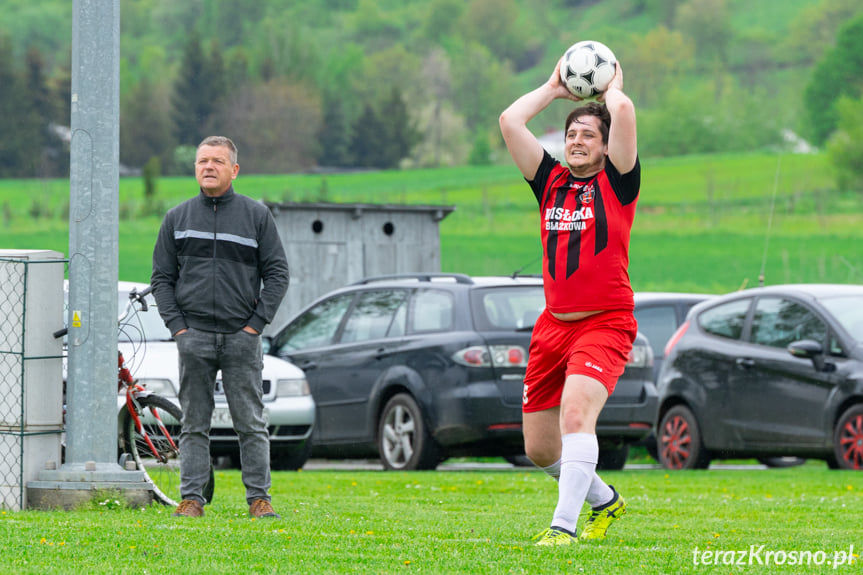
[[[168,211],[153,251],[153,295],[180,356],[183,501],[176,517],[204,514],[219,370],[240,440],[249,515],[279,517],[268,493],[261,331],[288,288],[288,263],[267,207],[234,192],[239,171],[231,140],[205,138],[195,156],[200,193]]]

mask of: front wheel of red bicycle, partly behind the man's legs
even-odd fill
[[[183,412],[159,395],[140,396],[136,401],[141,431],[135,418],[124,411],[124,448],[153,486],[156,499],[165,505],[177,505],[181,500],[179,437]]]

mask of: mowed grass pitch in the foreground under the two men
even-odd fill
[[[249,519],[239,472],[219,471],[201,519],[172,518],[159,505],[128,509],[107,495],[69,512],[3,511],[0,572],[800,573],[833,570],[842,553],[836,572],[861,568],[863,488],[854,472],[812,462],[604,477],[628,503],[609,537],[537,548],[531,536],[548,526],[557,500],[556,484],[537,470],[277,472],[279,520]],[[759,548],[754,564],[749,556],[743,567],[722,563]],[[768,551],[773,563],[759,564]],[[789,564],[792,551],[810,564]],[[720,564],[703,565],[715,552]]]

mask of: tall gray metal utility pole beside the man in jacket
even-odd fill
[[[57,481],[55,502],[73,504],[146,483],[117,459],[120,1],[74,0],[72,10],[66,462],[40,479]]]

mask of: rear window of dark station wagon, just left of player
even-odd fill
[[[474,321],[481,331],[529,330],[545,308],[541,285],[476,289]]]

